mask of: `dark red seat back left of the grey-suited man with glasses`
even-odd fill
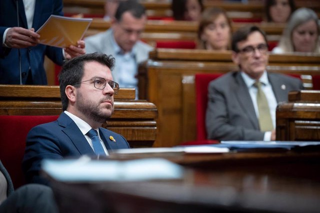
[[[206,140],[205,111],[208,101],[208,84],[222,74],[195,74],[195,109],[196,109],[196,140]]]

